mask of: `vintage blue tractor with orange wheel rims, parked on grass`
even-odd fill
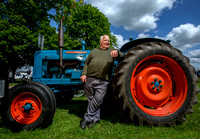
[[[12,129],[49,125],[56,109],[54,93],[70,99],[74,91],[83,89],[79,78],[90,51],[84,42],[82,50],[62,50],[62,32],[61,28],[60,51],[35,53],[33,81],[5,93],[2,119]],[[199,92],[189,59],[168,41],[155,38],[130,41],[120,51],[125,57],[113,73],[113,93],[129,117],[139,125],[184,122]]]

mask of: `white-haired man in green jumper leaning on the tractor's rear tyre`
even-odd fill
[[[88,99],[87,112],[80,122],[81,129],[90,128],[100,122],[100,106],[107,91],[112,74],[114,59],[123,57],[123,53],[110,48],[109,36],[100,38],[100,47],[94,48],[88,55],[83,67],[81,81]]]

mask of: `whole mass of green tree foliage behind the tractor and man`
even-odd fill
[[[92,49],[104,34],[110,36],[111,46],[116,44],[108,19],[83,0],[4,0],[0,2],[0,61],[8,63],[13,72],[33,65],[34,53],[40,50],[39,33],[44,35],[44,49],[59,49],[58,34],[50,19],[58,24],[60,19],[64,21],[64,49],[81,49],[81,40]]]

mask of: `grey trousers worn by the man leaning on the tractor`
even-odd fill
[[[100,121],[100,106],[106,94],[108,84],[108,81],[87,77],[87,82],[84,86],[88,99],[87,112],[84,115],[86,121]]]

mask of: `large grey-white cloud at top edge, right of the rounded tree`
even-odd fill
[[[85,0],[104,13],[112,25],[125,30],[146,32],[157,27],[164,9],[173,8],[176,0]]]

